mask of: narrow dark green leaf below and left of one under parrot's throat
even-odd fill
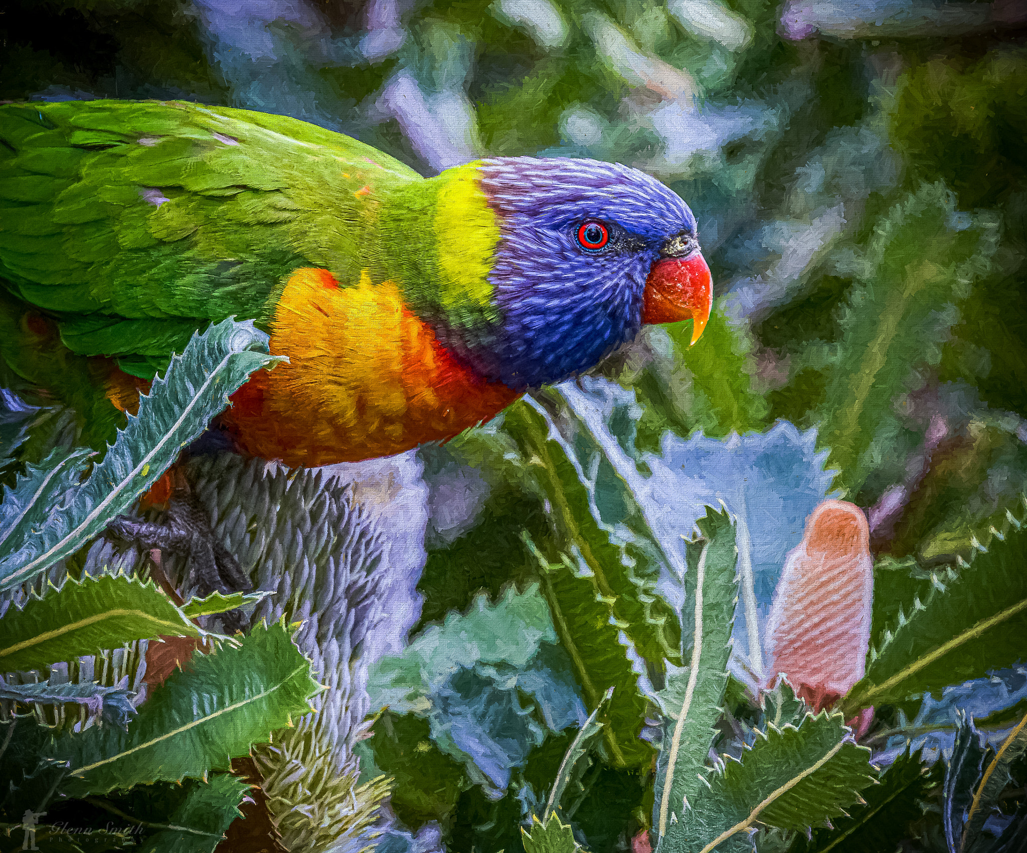
[[[527,535],[525,544],[538,560],[553,625],[571,657],[588,710],[599,707],[606,691],[613,688],[603,729],[610,762],[614,767],[648,766],[652,746],[639,738],[648,703],[639,691],[627,649],[620,644],[621,625],[614,620],[609,598],[586,569],[565,555],[560,563],[549,563]]]

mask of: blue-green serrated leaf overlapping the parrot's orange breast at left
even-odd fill
[[[99,535],[111,518],[124,512],[198,436],[227,404],[228,395],[250,374],[280,359],[268,355],[267,336],[253,322],[234,319],[194,335],[181,356],[172,359],[163,379],[153,381],[140,397],[139,417],[128,417],[104,461],[77,489],[66,493],[60,511],[44,499],[50,469],[36,469],[21,483],[18,512],[45,512],[46,524],[16,527],[0,556],[0,589],[31,581],[36,575]],[[66,463],[59,463],[66,464]],[[41,507],[45,506],[45,509]]]

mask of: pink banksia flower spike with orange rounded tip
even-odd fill
[[[814,710],[848,693],[866,669],[874,560],[854,504],[824,501],[785,559],[767,620],[769,683],[778,675]],[[860,720],[860,728],[869,725]]]

